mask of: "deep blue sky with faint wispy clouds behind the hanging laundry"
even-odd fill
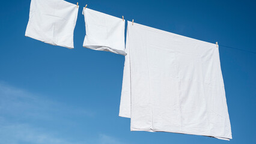
[[[131,132],[118,117],[124,56],[82,47],[82,7],[256,52],[255,1],[79,2],[75,49],[25,37],[30,0],[1,1],[0,144],[256,143],[256,55],[219,47],[233,139]]]

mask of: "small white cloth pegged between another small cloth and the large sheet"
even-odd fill
[[[125,20],[89,8],[83,10],[86,35],[83,46],[88,49],[126,55]]]

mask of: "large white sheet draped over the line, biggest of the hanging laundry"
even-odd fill
[[[120,116],[132,131],[232,139],[216,44],[131,22],[126,39]]]

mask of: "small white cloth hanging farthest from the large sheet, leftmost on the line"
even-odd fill
[[[25,36],[73,49],[77,17],[75,4],[62,0],[31,0]]]

